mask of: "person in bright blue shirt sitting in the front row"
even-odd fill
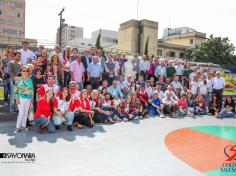
[[[149,102],[149,116],[153,117],[155,115],[159,115],[161,118],[165,118],[163,115],[163,105],[161,104],[161,100],[158,97],[158,92],[153,92],[153,98]]]

